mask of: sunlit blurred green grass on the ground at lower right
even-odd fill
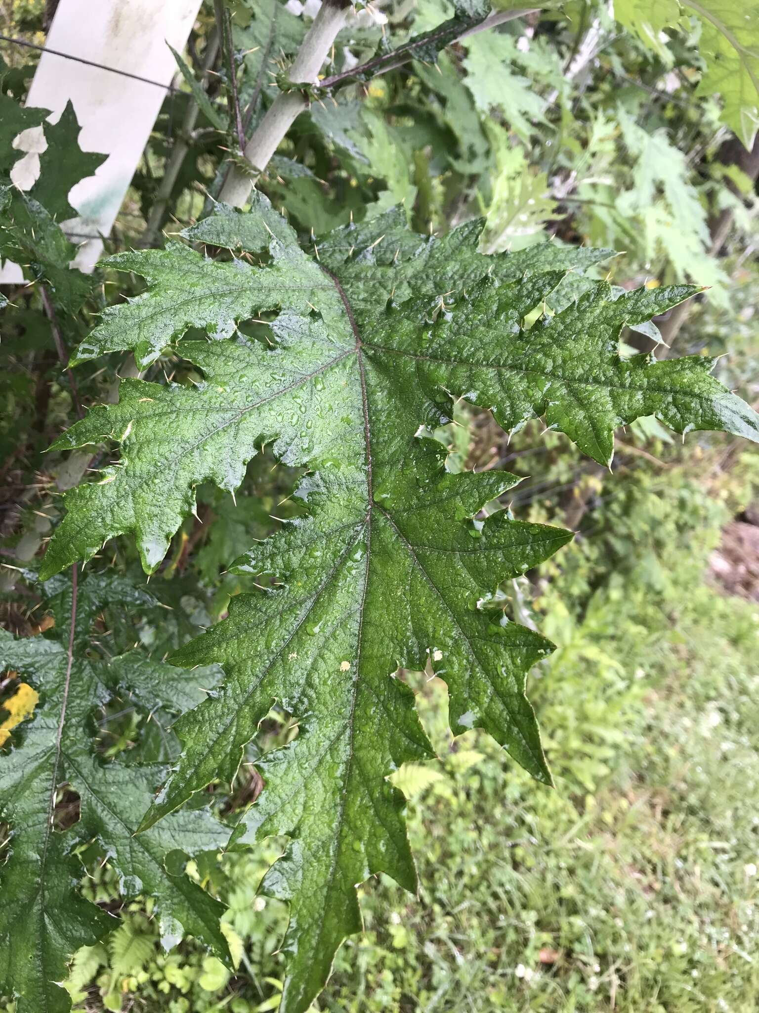
[[[603,537],[538,602],[559,650],[530,692],[556,790],[481,733],[446,738],[429,684],[446,776],[411,801],[420,900],[364,888],[367,934],[321,1008],[759,1007],[759,608],[704,583],[723,512],[697,486],[625,494],[636,536],[611,518],[620,556],[582,616],[563,596]]]

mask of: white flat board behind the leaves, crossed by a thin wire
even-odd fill
[[[82,149],[108,155],[69,198],[80,217],[66,226],[72,233],[93,236],[77,253],[75,263],[83,270],[91,270],[102,251],[98,237],[111,230],[176,71],[166,43],[181,53],[199,6],[200,0],[61,0],[58,5],[47,49],[135,75],[44,53],[26,99],[27,105],[51,109],[53,122],[71,99],[82,127]],[[16,146],[31,152],[12,173],[14,182],[27,189],[45,150],[41,128],[19,135]],[[21,276],[15,264],[0,269],[0,282],[17,280]]]

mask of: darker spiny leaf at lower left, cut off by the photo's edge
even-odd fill
[[[67,603],[71,609],[71,585],[66,585],[51,600],[58,620]],[[155,898],[167,947],[184,931],[221,954],[227,952],[219,928],[223,906],[171,859],[178,851],[216,849],[229,831],[206,810],[193,810],[175,813],[136,838],[140,816],[165,768],[106,764],[94,755],[93,712],[117,688],[139,691],[147,681],[147,667],[153,685],[162,686],[163,700],[170,705],[172,684],[177,682],[168,666],[139,654],[110,664],[85,656],[87,617],[92,618],[108,593],[111,602],[117,600],[112,582],[94,578],[84,585],[78,598],[84,620],[76,626],[71,651],[71,611],[68,621],[57,622],[60,640],[14,639],[0,630],[0,670],[12,670],[40,698],[31,719],[14,729],[13,748],[0,754],[0,819],[10,825],[10,856],[1,870],[0,994],[15,998],[17,1013],[70,1009],[69,995],[58,984],[66,978],[68,960],[80,946],[92,945],[118,925],[79,894],[83,869],[71,851],[82,841],[101,842],[125,897]],[[194,680],[185,682],[192,686]],[[202,694],[178,689],[176,696],[181,706]],[[81,806],[79,822],[65,833],[53,823],[63,784],[76,790]]]

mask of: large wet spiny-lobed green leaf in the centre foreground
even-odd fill
[[[248,830],[248,839],[290,838],[263,885],[290,904],[286,1013],[308,1008],[340,941],[357,930],[355,884],[378,871],[415,884],[403,797],[386,777],[430,746],[412,694],[394,678],[399,668],[429,660],[447,683],[455,732],[484,727],[550,779],[524,681],[551,644],[489,601],[499,581],[571,536],[503,511],[476,520],[517,479],[445,470],[441,445],[425,434],[449,419],[451,399],[492,408],[506,430],[544,414],[603,463],[614,427],[639,415],[681,433],[759,435],[756,414],[709,376],[708,360],[617,354],[625,323],[696,289],[619,295],[588,282],[577,301],[525,330],[569,267],[607,251],[543,243],[486,257],[481,227],[436,240],[391,213],[338,230],[320,246],[320,266],[257,197],[252,214],[221,209],[188,237],[258,252],[265,231],[268,263],[203,259],[179,246],[159,266],[155,253],[115,259],[151,285],[109,314],[86,356],[115,341],[150,356],[190,325],[219,336],[254,310],[279,314],[268,343],[241,334],[181,342],[204,376],[196,388],[126,381],[117,405],[92,409],[57,444],[115,439],[121,461],[68,493],[45,574],[124,532],[155,569],[195,486],[210,479],[233,492],[263,441],[309,469],[296,492],[309,515],[236,563],[259,576],[261,593],[235,598],[228,620],[174,655],[190,668],[219,661],[227,680],[177,723],[182,755],[142,825],[151,833],[210,780],[234,775],[272,701],[297,716],[298,737],[261,764],[266,789]]]

